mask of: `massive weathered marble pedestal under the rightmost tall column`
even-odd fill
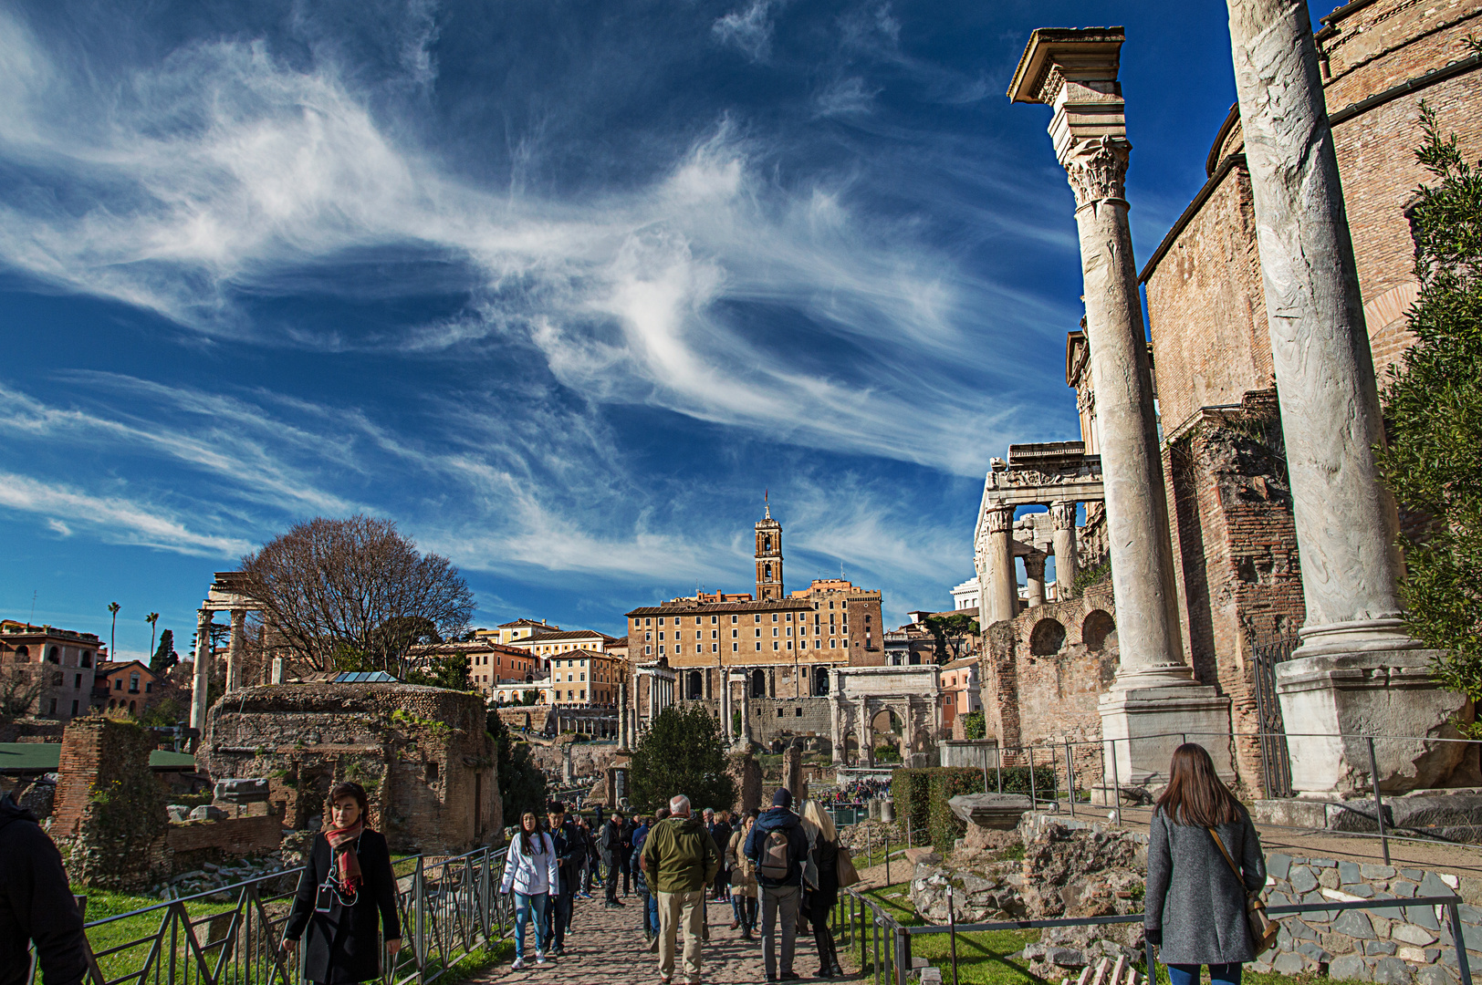
[[[1470,721],[1473,708],[1464,695],[1442,690],[1430,680],[1433,650],[1411,644],[1301,656],[1304,652],[1306,644],[1298,656],[1276,665],[1276,695],[1298,797],[1368,791],[1365,735],[1409,736],[1375,739],[1380,791],[1445,785],[1466,745],[1426,739],[1461,738],[1451,723]]]

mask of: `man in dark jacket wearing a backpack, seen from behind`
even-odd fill
[[[756,865],[756,881],[762,889],[762,967],[769,982],[797,981],[793,949],[797,946],[797,909],[802,905],[808,837],[791,807],[791,791],[780,787],[772,794],[772,809],[751,825],[742,849]],[[782,923],[781,961],[777,954],[778,920]]]

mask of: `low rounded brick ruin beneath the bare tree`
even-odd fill
[[[412,684],[282,684],[236,692],[207,717],[197,764],[259,776],[302,828],[354,781],[393,850],[455,852],[499,835],[494,742],[476,695]]]

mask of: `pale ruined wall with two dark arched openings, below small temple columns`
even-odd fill
[[[987,738],[1005,749],[1006,766],[1024,761],[1011,747],[1051,747],[1064,782],[1063,742],[1073,747],[1083,782],[1100,776],[1098,702],[1117,668],[1116,607],[1110,584],[1080,597],[1027,609],[988,628],[980,662]],[[1036,755],[1049,764],[1051,754]]]

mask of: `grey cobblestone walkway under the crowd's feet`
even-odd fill
[[[658,982],[658,955],[649,954],[643,932],[639,930],[639,898],[628,896],[627,906],[608,909],[602,898],[578,899],[566,933],[566,955],[553,964],[534,963],[534,936],[526,942],[526,967],[519,972],[508,964],[480,972],[470,985],[485,982],[557,982],[560,985],[654,985]],[[731,904],[708,904],[710,941],[704,951],[704,982],[716,985],[745,985],[762,982],[762,945],[742,941],[740,930],[731,929]],[[840,948],[843,960],[845,948]],[[803,981],[818,970],[818,952],[812,935],[797,938],[797,960],[793,970]],[[683,972],[676,969],[676,982]]]

